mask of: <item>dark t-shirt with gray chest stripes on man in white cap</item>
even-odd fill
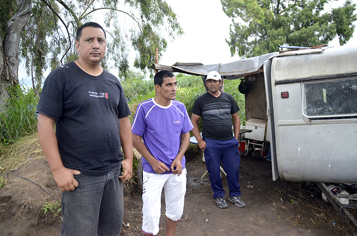
[[[207,92],[195,100],[191,112],[202,117],[204,138],[229,140],[233,138],[231,115],[238,111],[232,95],[222,93],[216,98]]]

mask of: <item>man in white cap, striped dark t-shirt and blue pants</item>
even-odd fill
[[[225,190],[221,180],[221,162],[227,173],[230,202],[238,207],[245,203],[240,197],[238,138],[240,131],[239,107],[233,96],[220,91],[223,85],[221,75],[210,71],[205,82],[208,92],[199,96],[192,108],[192,133],[198,141],[209,173],[213,198],[220,208],[227,208],[224,199]],[[198,129],[198,120],[202,117],[202,137]],[[232,133],[232,118],[234,136]]]

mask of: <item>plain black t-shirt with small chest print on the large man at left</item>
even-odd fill
[[[123,89],[108,71],[98,76],[72,61],[46,78],[37,113],[56,121],[63,166],[87,175],[104,175],[119,165],[119,120],[129,116]]]

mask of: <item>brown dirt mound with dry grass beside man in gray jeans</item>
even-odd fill
[[[45,158],[32,158],[7,174],[0,189],[2,235],[60,235],[61,193]]]

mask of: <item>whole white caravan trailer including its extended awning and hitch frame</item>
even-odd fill
[[[291,50],[227,64],[154,64],[152,68],[202,75],[217,70],[242,80],[245,137],[270,142],[272,178],[318,182],[336,209],[354,223],[346,207],[357,196],[324,183],[357,184],[357,47]],[[254,144],[255,143],[255,144]]]

